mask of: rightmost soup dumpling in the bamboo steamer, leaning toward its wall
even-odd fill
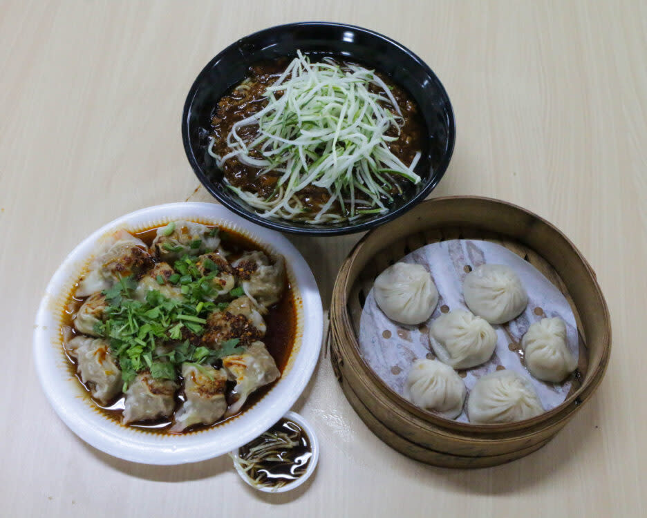
[[[577,367],[561,318],[542,318],[532,323],[521,338],[521,347],[530,374],[543,381],[559,383]]]

